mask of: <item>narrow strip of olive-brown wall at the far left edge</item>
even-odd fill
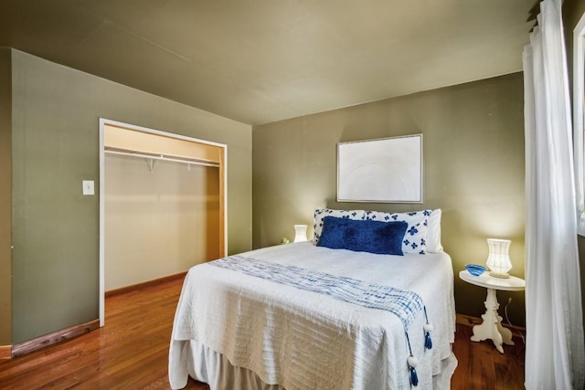
[[[0,47],[0,345],[12,344],[12,56]]]

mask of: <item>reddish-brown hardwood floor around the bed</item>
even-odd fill
[[[106,326],[76,339],[0,361],[1,389],[168,389],[168,345],[182,280],[106,299]],[[523,389],[524,346],[498,353],[457,325],[459,365],[452,389]],[[186,389],[207,385],[190,380]]]

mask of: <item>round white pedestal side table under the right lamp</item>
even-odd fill
[[[459,272],[459,278],[475,286],[487,289],[487,298],[485,298],[485,314],[482,314],[484,321],[473,326],[472,342],[481,342],[490,339],[494,342],[495,348],[499,353],[504,353],[502,344],[514,345],[512,341],[512,332],[502,326],[502,317],[497,313],[500,304],[495,296],[496,290],[521,291],[526,287],[524,279],[511,276],[510,278],[495,278],[485,271],[480,276],[473,276],[463,269]]]

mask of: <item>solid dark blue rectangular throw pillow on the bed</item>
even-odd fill
[[[317,247],[349,249],[402,256],[402,239],[409,224],[325,216]]]

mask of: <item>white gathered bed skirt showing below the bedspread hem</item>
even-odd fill
[[[210,350],[196,340],[174,341],[173,343],[184,343],[183,348],[185,349],[182,351],[186,353],[189,376],[208,384],[211,390],[284,389],[281,385],[265,384],[253,371],[232,365],[223,354]],[[434,390],[449,390],[451,388],[451,377],[456,366],[457,359],[453,353],[441,361],[441,372],[432,377]]]

